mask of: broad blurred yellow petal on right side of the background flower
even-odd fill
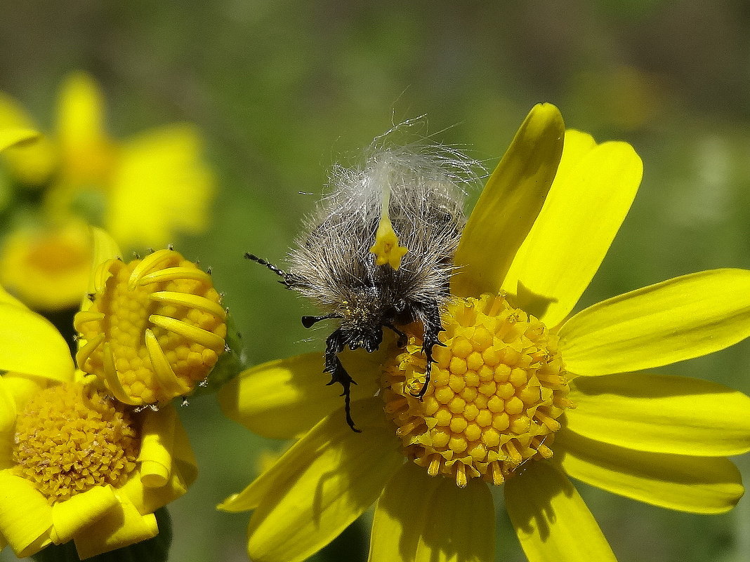
[[[202,139],[188,125],[149,131],[123,147],[105,218],[115,240],[155,247],[176,232],[205,230],[215,188],[201,152]]]

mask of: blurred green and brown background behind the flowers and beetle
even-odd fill
[[[356,162],[392,122],[422,114],[426,133],[490,169],[539,101],[568,127],[634,145],[639,196],[580,306],[691,271],[750,268],[746,1],[113,4],[2,1],[0,89],[49,130],[59,82],[87,70],[113,136],[202,128],[220,192],[210,230],[175,244],[213,267],[254,363],[320,348],[321,335],[299,322],[310,308],[242,254],[283,262],[332,163]],[[663,372],[750,393],[750,343]],[[214,396],[181,415],[201,474],[169,506],[170,560],[245,561],[248,515],[214,505],[281,444],[223,419]],[[750,462],[738,462],[750,481]],[[578,487],[621,562],[750,558],[748,498],[694,516]],[[502,507],[497,527],[497,560],[522,561]],[[365,560],[368,528],[356,523],[316,560]],[[6,549],[0,560],[14,558]]]

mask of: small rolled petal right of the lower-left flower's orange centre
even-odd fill
[[[172,471],[172,444],[175,435],[175,408],[167,405],[158,411],[146,411],[141,430],[138,460],[144,486],[158,488],[169,480]]]

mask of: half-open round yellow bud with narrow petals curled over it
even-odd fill
[[[167,402],[204,381],[226,338],[211,276],[174,250],[105,262],[89,310],[76,315],[76,359],[121,402]]]

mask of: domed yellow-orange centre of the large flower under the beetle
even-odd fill
[[[557,336],[503,294],[456,299],[442,320],[445,347],[433,348],[422,402],[413,396],[425,381],[421,337],[410,336],[383,375],[404,454],[462,488],[477,477],[499,485],[527,460],[549,459],[571,406]]]

